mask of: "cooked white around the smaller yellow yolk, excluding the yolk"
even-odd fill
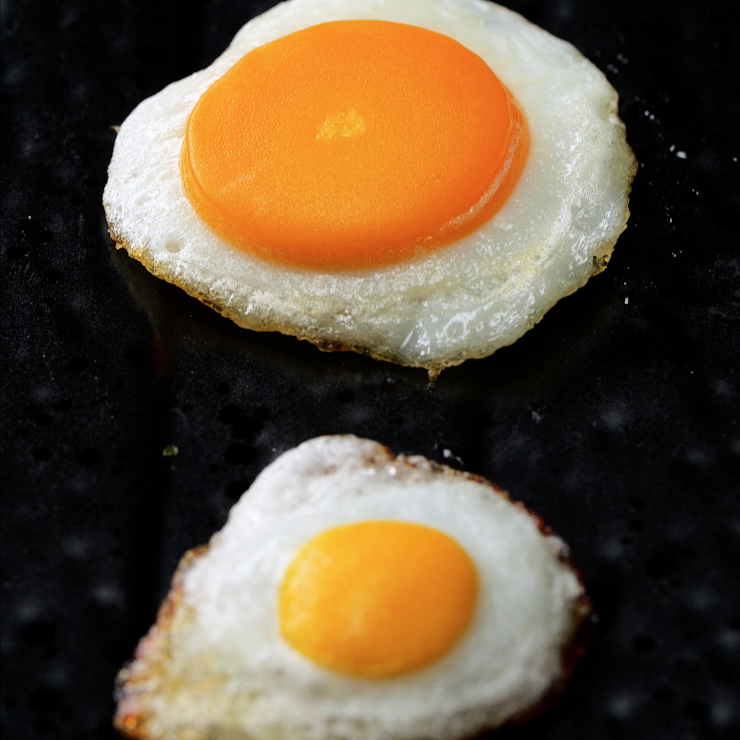
[[[277,624],[277,589],[300,545],[366,519],[437,528],[478,569],[465,635],[395,679],[318,667]],[[562,540],[490,483],[371,440],[318,437],[265,468],[208,548],[186,555],[121,671],[116,724],[152,740],[468,736],[531,713],[562,687],[589,614]]]

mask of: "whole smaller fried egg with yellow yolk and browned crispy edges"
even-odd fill
[[[590,613],[562,540],[480,477],[318,437],[269,465],[119,676],[151,740],[429,740],[562,689]]]

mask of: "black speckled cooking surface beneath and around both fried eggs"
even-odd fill
[[[511,3],[619,91],[632,216],[607,272],[432,392],[238,329],[107,237],[112,126],[268,5],[1,3],[4,737],[113,739],[115,673],[178,558],[277,454],[334,432],[482,474],[570,543],[596,641],[505,737],[736,736],[736,4]]]

